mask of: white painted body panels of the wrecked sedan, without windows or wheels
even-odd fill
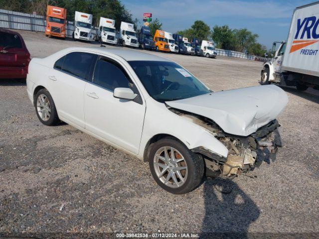
[[[92,62],[91,68],[88,66],[88,69],[93,69],[90,72],[93,72],[87,80],[55,67],[59,59],[65,62],[66,58],[62,57],[75,52],[97,55],[96,57],[109,59],[121,66],[136,87],[137,94],[132,97],[132,90],[129,88],[115,87],[113,92],[92,83],[90,79],[95,77],[97,63]],[[222,92],[212,92],[202,85],[207,94],[160,102],[148,93],[131,67],[131,61],[175,64],[171,60],[137,51],[101,47],[67,48],[46,58],[31,60],[26,80],[27,94],[32,104],[36,105],[37,92],[45,88],[53,99],[59,119],[144,161],[148,159],[148,150],[152,148],[150,143],[166,136],[178,139],[194,153],[208,155],[211,159],[231,161],[229,158],[233,155],[229,154],[230,149],[218,138],[217,132],[223,131],[226,138],[227,135],[238,135],[241,139],[248,139],[252,138],[251,134],[258,132],[257,136],[263,137],[260,133],[269,129],[268,135],[274,129],[273,127],[270,130],[272,126],[268,125],[273,125],[288,102],[287,94],[273,85]],[[174,69],[183,77],[193,77],[181,66]],[[178,72],[175,74],[179,74]],[[128,97],[118,97],[118,94]],[[135,99],[137,96],[138,101]],[[207,121],[202,118],[209,119],[216,126],[208,126]],[[267,146],[269,142],[260,141],[261,143]],[[249,158],[247,150],[251,152],[250,149],[244,149],[243,162],[240,165],[253,165],[255,162],[255,159],[253,162],[246,162]]]

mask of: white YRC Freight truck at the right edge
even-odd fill
[[[273,82],[296,86],[300,91],[308,87],[319,90],[318,25],[318,1],[294,10],[287,40],[274,42],[273,58],[264,63],[262,85]]]

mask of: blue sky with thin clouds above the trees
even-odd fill
[[[258,42],[271,48],[274,41],[287,39],[291,17],[297,6],[315,0],[121,0],[143,23],[143,13],[159,18],[162,29],[171,33],[190,28],[202,20],[211,28],[228,25],[247,28],[259,35]]]

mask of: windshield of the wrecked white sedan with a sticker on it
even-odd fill
[[[174,101],[211,91],[174,62],[129,61],[150,96],[159,101]]]

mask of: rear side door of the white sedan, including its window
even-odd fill
[[[81,128],[85,127],[84,89],[96,58],[91,53],[71,52],[57,60],[48,75],[59,118]]]

